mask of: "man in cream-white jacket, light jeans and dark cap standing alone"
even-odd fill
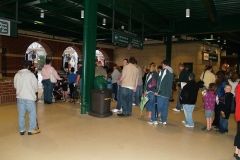
[[[14,76],[14,88],[17,95],[18,107],[18,123],[20,135],[26,132],[25,115],[29,113],[28,135],[38,134],[37,114],[36,114],[36,92],[38,91],[37,79],[30,70],[28,70],[29,62],[24,60],[21,62],[22,69]]]

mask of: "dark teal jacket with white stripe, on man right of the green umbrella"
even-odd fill
[[[173,70],[166,66],[159,73],[156,92],[158,96],[169,98],[172,95]]]

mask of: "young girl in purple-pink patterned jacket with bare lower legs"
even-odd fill
[[[203,127],[203,131],[212,130],[212,112],[214,111],[217,95],[217,86],[214,83],[210,83],[206,94],[203,96],[203,102],[205,107],[205,117],[207,126]]]

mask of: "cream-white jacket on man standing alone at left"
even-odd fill
[[[37,79],[28,69],[22,69],[14,76],[14,88],[16,89],[17,98],[36,100]]]

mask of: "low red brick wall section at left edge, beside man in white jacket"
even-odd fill
[[[13,81],[0,82],[0,105],[16,102],[16,90]]]

